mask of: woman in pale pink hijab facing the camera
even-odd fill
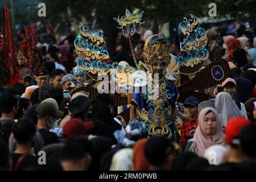
[[[200,157],[205,150],[215,144],[224,144],[225,134],[218,117],[218,112],[212,107],[205,107],[199,114],[199,123],[194,137],[188,140],[188,151],[194,152]]]

